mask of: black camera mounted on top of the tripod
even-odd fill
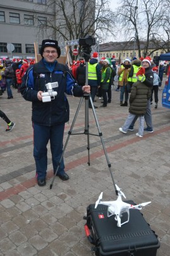
[[[91,53],[91,46],[96,44],[96,39],[91,35],[79,39],[79,46],[81,46],[81,56],[88,61]]]

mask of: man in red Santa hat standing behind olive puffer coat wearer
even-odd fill
[[[142,66],[145,68],[145,75],[144,76],[138,76],[137,79],[141,81],[144,85],[150,88],[150,91],[153,87],[154,82],[154,73],[152,72],[150,66],[151,66],[151,59],[149,56],[145,57],[142,61]],[[133,126],[135,125],[135,121],[137,120],[138,116],[135,116],[133,119],[132,124],[129,126],[128,130],[133,131]],[[150,109],[150,99],[147,101],[147,109],[146,113],[144,114],[145,123],[147,125],[146,128],[144,128],[144,131],[152,133],[152,113]]]

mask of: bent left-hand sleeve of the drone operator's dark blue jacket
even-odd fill
[[[26,73],[22,78],[20,92],[26,101],[39,101],[37,97],[38,91],[34,90],[33,66],[26,70]]]

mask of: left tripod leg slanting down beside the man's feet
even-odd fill
[[[67,147],[67,143],[69,142],[69,138],[70,138],[70,136],[71,136],[72,129],[73,129],[74,124],[75,124],[75,122],[76,122],[76,118],[77,118],[77,115],[78,115],[78,113],[79,113],[79,109],[80,109],[80,107],[81,107],[82,100],[83,100],[83,97],[81,97],[81,100],[80,100],[80,102],[79,102],[79,106],[77,107],[76,114],[75,114],[74,119],[73,119],[73,121],[72,121],[71,129],[70,129],[69,132],[68,132],[67,140],[66,140],[65,145],[64,145],[64,148],[63,148],[63,150],[62,150],[62,155],[61,155],[61,157],[60,157],[60,161],[59,161],[59,163],[58,163],[58,165],[57,165],[57,169],[56,169],[55,174],[54,174],[54,177],[53,177],[53,179],[52,179],[52,183],[50,184],[50,190],[52,189],[52,186],[53,186],[55,177],[56,177],[57,172],[58,172],[58,170],[59,170],[60,163],[61,163],[61,161],[62,161],[62,157],[63,157],[64,152],[65,152],[65,149],[66,149],[66,147]]]

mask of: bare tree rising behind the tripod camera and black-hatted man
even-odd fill
[[[106,39],[108,35],[114,36],[113,12],[109,3],[109,0],[48,0],[47,9],[52,9],[53,15],[40,25],[39,33],[50,28],[53,38],[60,42],[86,35],[98,37],[99,40]],[[37,15],[35,18],[38,20]]]

